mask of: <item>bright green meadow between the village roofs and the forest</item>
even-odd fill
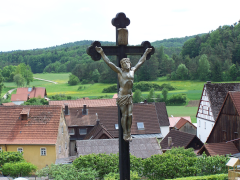
[[[114,93],[102,93],[104,88],[111,86],[113,84],[78,84],[75,86],[68,85],[69,73],[50,73],[50,74],[34,74],[33,77],[46,79],[50,81],[55,81],[57,84],[53,84],[46,81],[34,80],[30,83],[30,87],[45,87],[47,90],[47,95],[55,95],[55,94],[65,94],[70,95],[75,98],[89,97],[90,99],[105,96],[105,98],[112,98]],[[153,81],[159,85],[163,83],[169,83],[176,88],[174,91],[168,92],[168,97],[173,94],[184,93],[187,95],[187,100],[199,100],[201,98],[201,93],[203,89],[203,85],[205,82],[198,81],[168,81],[165,77],[158,78],[156,81]],[[3,89],[2,96],[8,90],[17,88],[15,83],[4,83],[5,88]],[[82,89],[78,90],[79,86],[82,86]],[[16,93],[14,91],[13,93]],[[156,91],[156,94],[161,94],[161,91]],[[148,92],[142,92],[143,96],[147,96]],[[185,107],[185,106],[168,106],[167,107],[168,115],[171,116],[190,116],[192,122],[196,121],[196,112],[197,107]]]

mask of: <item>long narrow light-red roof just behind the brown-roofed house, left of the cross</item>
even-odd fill
[[[68,104],[68,107],[83,107],[84,104],[86,104],[87,107],[117,106],[116,99],[79,99],[49,101],[49,105],[62,105],[63,108],[65,108],[65,104]]]

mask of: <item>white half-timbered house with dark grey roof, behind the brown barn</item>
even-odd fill
[[[222,107],[228,91],[239,91],[239,83],[211,83],[204,84],[199,102],[197,117],[197,136],[206,142],[218,113]]]

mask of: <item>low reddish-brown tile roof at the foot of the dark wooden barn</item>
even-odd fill
[[[206,154],[210,156],[239,153],[233,142],[204,144],[204,146],[198,151],[198,154],[202,154],[204,151],[206,151]]]

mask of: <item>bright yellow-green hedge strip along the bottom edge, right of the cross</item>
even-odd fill
[[[226,179],[228,179],[228,174],[214,174],[210,176],[191,176],[185,178],[176,178],[176,180],[226,180]]]

